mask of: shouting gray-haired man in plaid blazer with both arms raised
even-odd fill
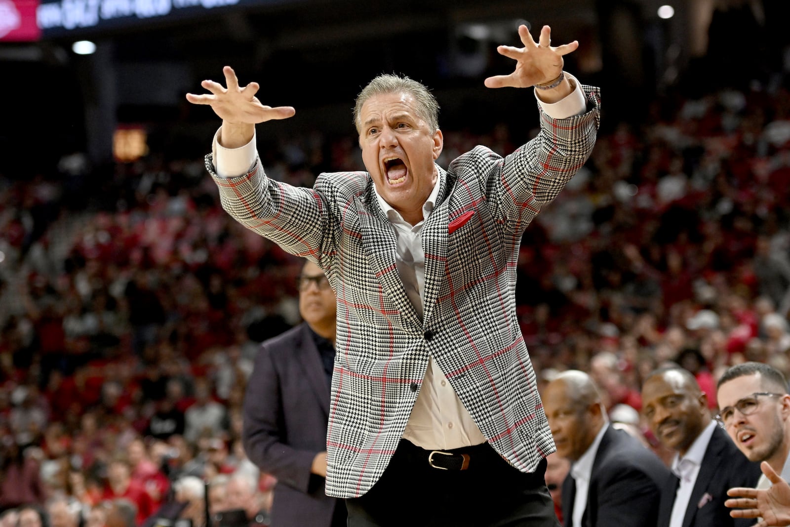
[[[308,258],[337,294],[326,492],[348,525],[559,525],[544,480],[555,450],[518,325],[521,235],[592,152],[600,92],[562,70],[576,41],[497,51],[532,88],[540,133],[507,156],[477,146],[447,168],[438,104],[421,83],[381,75],[356,99],[367,171],[312,188],[267,177],[255,125],[294,115],[258,84],[203,81],[188,94],[223,120],[206,168],[236,220]],[[532,94],[529,94],[530,98]],[[526,103],[526,100],[525,100]]]

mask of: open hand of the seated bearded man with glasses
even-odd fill
[[[724,506],[730,507],[732,518],[762,518],[754,527],[790,525],[790,485],[766,461],[760,464],[762,473],[772,486],[764,490],[735,487],[727,491],[730,496]]]

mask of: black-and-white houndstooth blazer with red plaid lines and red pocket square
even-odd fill
[[[585,115],[551,119],[509,156],[477,146],[443,172],[423,226],[423,320],[395,265],[395,233],[367,172],[318,176],[297,188],[265,176],[216,176],[224,209],[247,228],[325,270],[337,293],[337,356],[327,433],[326,491],[363,495],[386,469],[428,357],[472,419],[514,467],[554,451],[513,290],[522,232],[592,152],[600,92],[582,87]],[[252,379],[250,382],[254,382]]]

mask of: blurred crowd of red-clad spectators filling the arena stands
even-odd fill
[[[517,269],[536,371],[589,372],[648,439],[641,382],[666,361],[711,408],[732,364],[790,375],[790,94],[668,96],[650,115],[600,134]],[[447,130],[438,162],[535,131]],[[354,137],[261,147],[297,185],[362,167]],[[206,510],[265,522],[275,482],[246,459],[241,404],[258,344],[299,322],[300,265],[224,213],[201,159],[70,154],[0,177],[0,527],[153,525],[172,503],[194,527]]]

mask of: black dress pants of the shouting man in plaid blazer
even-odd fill
[[[468,469],[436,469],[431,450],[401,439],[381,479],[346,500],[348,527],[559,527],[545,459],[525,473],[487,443],[449,452],[468,454]]]

